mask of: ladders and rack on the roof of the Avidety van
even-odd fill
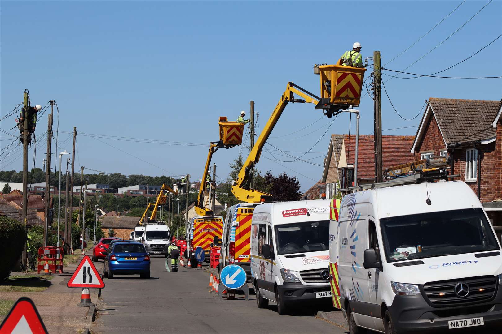
[[[389,179],[387,182],[368,183],[339,190],[346,193],[405,184],[434,182],[438,180],[448,181],[451,178],[460,176],[460,174],[448,174],[450,169],[449,163],[449,157],[430,157],[421,159],[407,164],[387,168],[384,172],[384,176]]]

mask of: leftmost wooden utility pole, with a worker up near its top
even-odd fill
[[[25,232],[28,235],[28,110],[30,104],[30,96],[28,90],[25,89],[24,93],[24,106],[23,106],[23,221],[25,223]],[[21,256],[21,267],[26,270],[26,241]]]

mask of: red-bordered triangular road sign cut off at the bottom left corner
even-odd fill
[[[48,331],[33,301],[21,297],[0,325],[0,333],[48,334]]]

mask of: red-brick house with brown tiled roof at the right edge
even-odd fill
[[[494,226],[502,226],[502,100],[430,98],[411,153],[450,156]]]

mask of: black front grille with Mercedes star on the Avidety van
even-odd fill
[[[463,306],[488,301],[493,298],[496,289],[497,278],[495,276],[429,282],[422,287],[429,303],[440,307]]]

